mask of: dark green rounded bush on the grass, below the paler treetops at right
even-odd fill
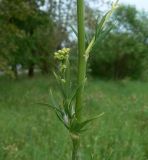
[[[127,33],[110,34],[94,52],[91,67],[95,75],[139,78],[145,69],[146,46]]]

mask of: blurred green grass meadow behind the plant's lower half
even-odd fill
[[[67,130],[52,111],[47,77],[0,78],[0,160],[69,160]],[[82,136],[82,160],[148,160],[148,83],[90,80],[84,118],[105,112]]]

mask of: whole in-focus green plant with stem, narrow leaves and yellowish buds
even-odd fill
[[[77,21],[78,21],[78,75],[77,87],[72,88],[72,80],[70,77],[70,61],[69,48],[63,48],[54,53],[55,59],[58,61],[58,72],[54,73],[57,85],[61,93],[60,99],[51,93],[51,104],[44,104],[53,109],[59,120],[68,129],[72,144],[72,160],[80,159],[80,134],[85,131],[85,126],[92,120],[103,115],[82,121],[83,93],[86,79],[86,65],[89,54],[96,43],[110,31],[105,28],[106,21],[117,6],[118,0],[112,5],[101,21],[96,26],[96,31],[89,45],[85,48],[85,26],[84,26],[84,0],[77,0]]]

